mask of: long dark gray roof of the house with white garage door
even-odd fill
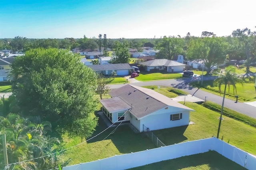
[[[87,65],[94,71],[101,71],[101,70],[124,70],[124,69],[132,69],[132,67],[128,63],[124,64],[97,64],[97,65]]]

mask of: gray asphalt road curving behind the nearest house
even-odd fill
[[[210,80],[210,79],[215,79],[216,77],[204,77],[203,80]],[[217,103],[218,105],[222,105],[222,99],[220,95],[215,95],[212,93],[209,93],[207,91],[203,91],[201,89],[192,87],[189,85],[191,81],[201,81],[201,79],[192,79],[192,78],[184,78],[184,79],[170,79],[170,80],[159,80],[159,81],[147,81],[147,82],[136,82],[136,83],[130,83],[132,85],[137,85],[137,86],[146,86],[146,85],[162,85],[162,86],[171,86],[177,89],[181,89],[183,91],[186,91],[190,93],[191,95],[194,95],[195,97],[198,97],[200,99],[206,101],[212,101],[214,103]],[[109,85],[110,89],[116,89],[119,87],[122,87],[126,85],[125,84],[119,84],[119,85]],[[253,93],[255,93],[253,91]],[[243,113],[244,115],[248,115],[250,117],[256,118],[256,107],[245,104],[245,103],[235,103],[235,101],[230,100],[230,99],[225,99],[224,101],[224,107],[227,107],[229,109],[232,109],[234,111],[237,111],[239,113]]]

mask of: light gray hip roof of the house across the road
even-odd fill
[[[142,62],[140,64],[150,66],[150,67],[162,66],[162,65],[164,65],[166,67],[186,65],[186,64],[182,64],[177,61],[172,61],[172,60],[168,60],[168,59],[153,59],[150,61]]]

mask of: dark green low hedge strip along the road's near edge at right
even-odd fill
[[[207,109],[210,109],[212,111],[216,111],[218,113],[220,113],[221,111],[221,105],[218,105],[216,103],[207,101],[204,104],[201,104],[202,106],[206,107]],[[251,127],[255,127],[256,128],[256,119],[249,117],[247,115],[244,115],[242,113],[233,111],[231,109],[228,109],[226,107],[223,108],[223,115],[230,117],[232,119],[236,119],[240,122],[243,122],[247,125],[250,125]]]

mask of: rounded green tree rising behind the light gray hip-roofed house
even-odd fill
[[[175,55],[182,53],[184,40],[176,37],[166,37],[158,40],[156,49],[160,51],[156,54],[156,58],[172,59]]]

